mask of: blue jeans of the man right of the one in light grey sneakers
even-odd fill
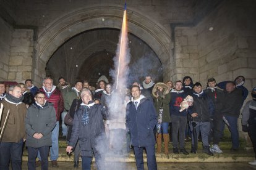
[[[225,118],[228,120],[230,125],[229,131],[231,132],[231,139],[232,139],[232,148],[239,148],[239,134],[237,129],[237,118],[234,116],[226,116]]]

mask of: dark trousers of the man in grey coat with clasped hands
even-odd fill
[[[48,170],[49,146],[43,146],[40,148],[28,147],[28,170],[36,169],[35,160],[38,151],[40,151],[41,155],[41,169]]]

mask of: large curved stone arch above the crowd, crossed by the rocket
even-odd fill
[[[95,28],[120,29],[122,13],[123,9],[121,7],[91,7],[70,12],[46,26],[46,29],[38,35],[38,43],[36,44],[37,54],[35,62],[33,62],[35,81],[41,81],[45,76],[46,63],[67,39]],[[127,10],[127,21],[129,32],[145,41],[158,55],[163,68],[167,68],[172,57],[170,52],[171,38],[167,31],[132,10]],[[169,69],[163,70],[164,79],[166,79],[169,75]]]

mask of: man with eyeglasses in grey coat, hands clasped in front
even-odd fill
[[[48,152],[51,146],[51,131],[56,126],[55,109],[41,91],[35,93],[35,103],[27,111],[25,127],[27,133],[28,169],[35,169],[38,151],[41,155],[41,169],[48,169]]]

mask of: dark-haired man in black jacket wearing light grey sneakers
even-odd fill
[[[215,113],[213,115],[213,121],[211,123],[211,129],[213,130],[213,145],[210,148],[211,152],[222,153],[222,150],[218,146],[221,136],[222,136],[222,126],[223,126],[223,114],[221,113],[222,103],[224,102],[224,93],[222,90],[217,89],[217,83],[214,78],[208,79],[207,89],[204,92],[213,101],[215,107]],[[211,135],[211,134],[210,134]],[[211,138],[211,137],[209,137]],[[209,141],[210,142],[210,141]]]

